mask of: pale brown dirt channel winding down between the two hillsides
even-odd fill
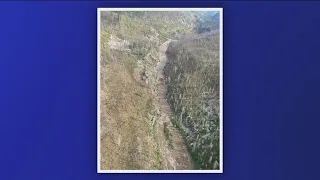
[[[157,122],[157,134],[162,156],[163,169],[192,169],[192,163],[188,150],[178,129],[171,123],[170,105],[165,99],[165,83],[163,69],[167,62],[165,52],[171,40],[160,46],[160,62],[157,66],[157,100],[159,107],[159,120]]]

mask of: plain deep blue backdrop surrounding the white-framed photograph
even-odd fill
[[[224,8],[224,173],[97,174],[98,7]],[[1,2],[0,179],[320,179],[320,3]]]

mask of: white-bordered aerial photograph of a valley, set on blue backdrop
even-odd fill
[[[97,23],[98,172],[221,173],[222,8],[99,8]]]

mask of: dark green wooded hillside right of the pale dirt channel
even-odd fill
[[[165,68],[173,124],[185,136],[199,169],[219,164],[219,35],[171,43]]]

